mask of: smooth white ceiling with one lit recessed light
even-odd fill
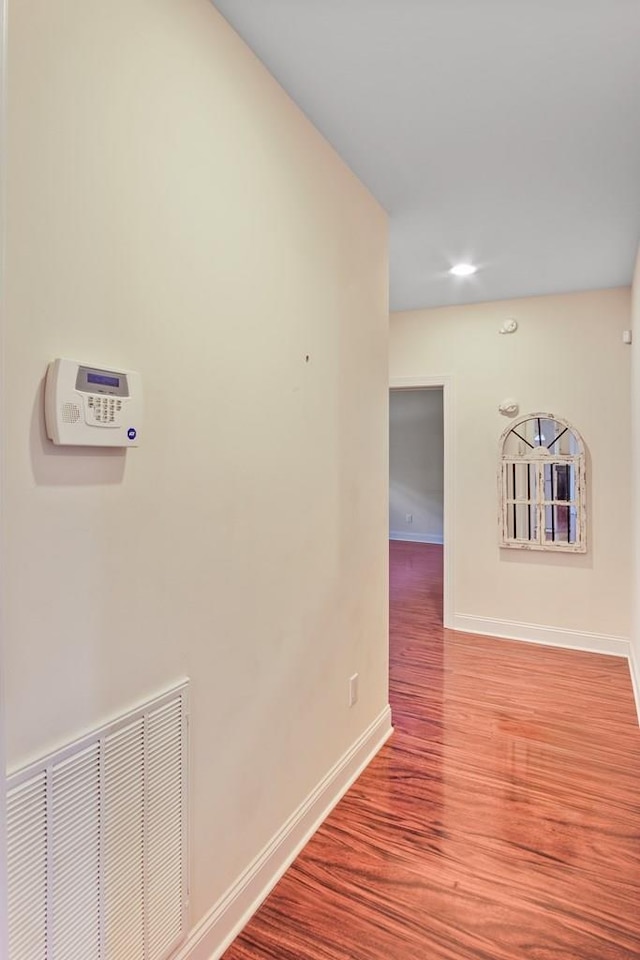
[[[640,0],[214,2],[388,210],[394,309],[630,282]]]

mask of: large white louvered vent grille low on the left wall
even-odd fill
[[[186,933],[187,685],[9,778],[9,960],[164,960]]]

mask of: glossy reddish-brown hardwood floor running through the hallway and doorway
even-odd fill
[[[445,631],[441,578],[391,544],[395,734],[225,960],[640,958],[626,661]]]

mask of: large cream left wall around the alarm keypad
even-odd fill
[[[208,0],[9,38],[9,763],[189,676],[196,921],[387,703],[386,218]],[[55,356],[139,449],[46,440]]]

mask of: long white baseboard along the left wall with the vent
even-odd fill
[[[392,733],[387,706],[194,927],[175,960],[219,960]]]

